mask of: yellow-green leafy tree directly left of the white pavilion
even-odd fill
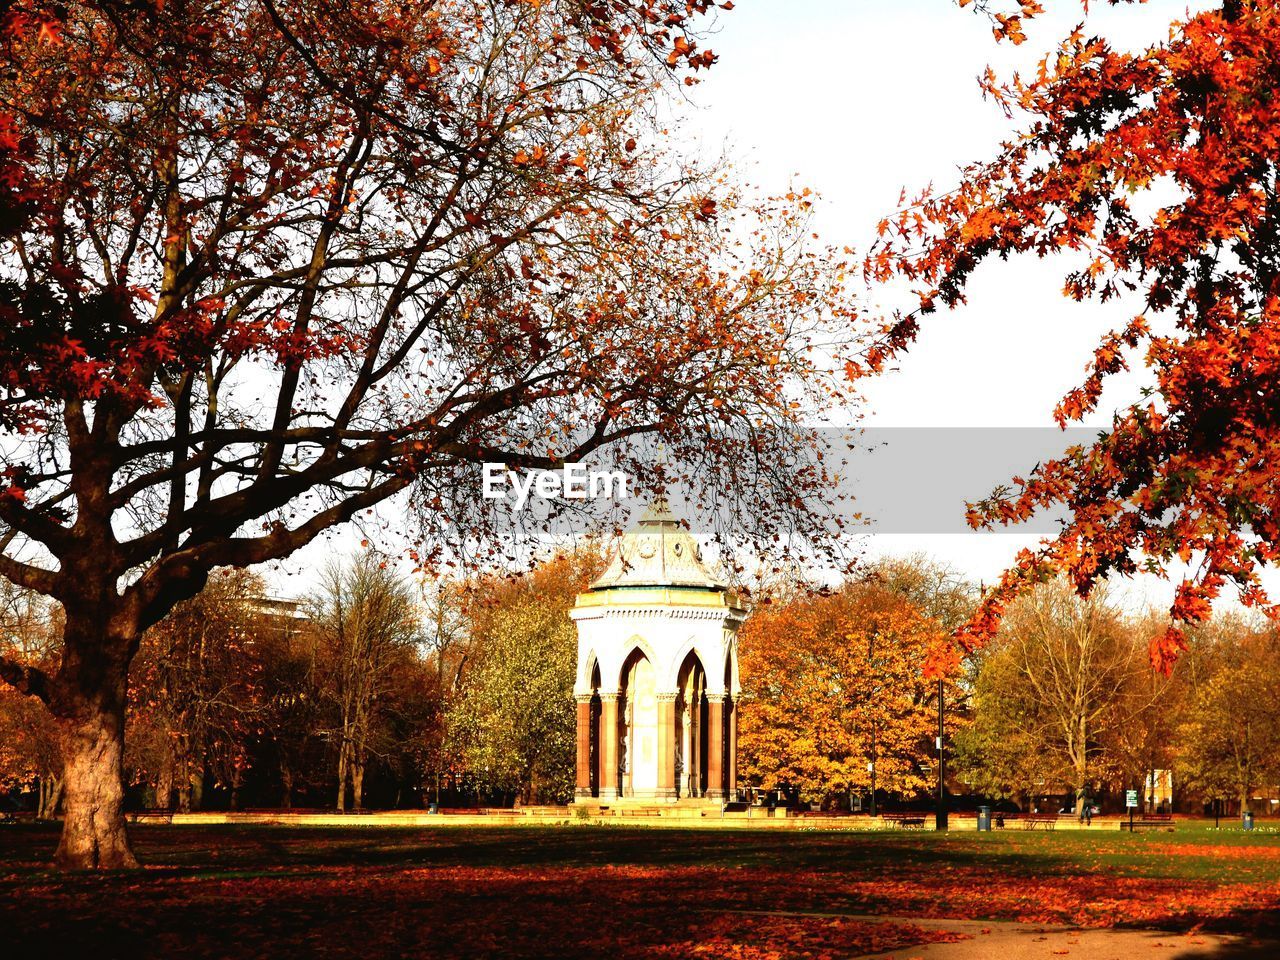
[[[526,804],[572,799],[577,632],[568,612],[600,559],[595,550],[558,554],[522,576],[475,585],[470,662],[449,707],[445,750],[483,788]]]

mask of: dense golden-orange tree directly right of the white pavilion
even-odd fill
[[[815,803],[870,790],[870,764],[877,790],[927,787],[937,686],[924,666],[940,636],[874,576],[758,605],[739,640],[745,777]]]

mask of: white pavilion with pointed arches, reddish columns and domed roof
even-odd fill
[[[732,797],[746,609],[664,504],[623,535],[570,616],[579,801]]]

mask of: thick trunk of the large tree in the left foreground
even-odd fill
[[[61,869],[137,867],[124,827],[124,700],[133,644],[106,618],[68,609],[50,709],[63,754]]]

